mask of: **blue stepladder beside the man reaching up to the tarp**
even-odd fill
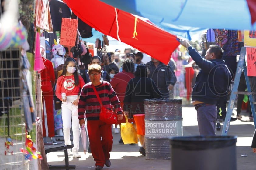
[[[245,64],[245,55],[246,55],[246,47],[242,47],[241,52],[240,52],[239,61],[237,64],[237,70],[236,70],[236,75],[234,78],[233,88],[232,88],[232,91],[230,94],[230,99],[228,102],[227,114],[226,114],[225,122],[223,124],[223,129],[222,129],[222,134],[221,134],[223,136],[226,136],[228,133],[228,129],[229,129],[229,125],[230,125],[230,118],[231,118],[231,115],[233,112],[237,94],[247,94],[248,95],[248,97],[249,97],[248,102],[250,102],[250,104],[251,104],[251,111],[252,111],[254,126],[256,127],[256,115],[255,115],[255,108],[254,108],[254,104],[256,104],[256,102],[254,102],[252,99],[253,92],[251,92],[251,86],[250,86],[249,78],[247,76],[247,66]],[[244,69],[244,75],[245,75],[245,82],[246,82],[246,86],[247,86],[247,92],[237,92],[243,69]]]

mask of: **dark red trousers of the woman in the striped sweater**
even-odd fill
[[[95,166],[104,166],[105,161],[110,158],[113,145],[111,125],[100,120],[87,121],[88,137]],[[102,138],[102,140],[101,140]]]

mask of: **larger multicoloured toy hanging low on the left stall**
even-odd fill
[[[24,153],[25,160],[31,161],[32,158],[43,159],[41,152],[36,151],[36,148],[33,147],[33,141],[30,135],[27,135],[25,146],[26,146],[26,149],[20,148],[20,151]]]

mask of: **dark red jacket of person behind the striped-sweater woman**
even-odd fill
[[[126,86],[132,78],[134,78],[132,72],[126,72],[125,70],[123,70],[122,72],[117,73],[110,81],[110,84],[116,92],[116,95],[121,103],[123,103],[124,100]]]

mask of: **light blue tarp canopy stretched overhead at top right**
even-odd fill
[[[188,39],[207,28],[256,30],[255,0],[101,1],[148,18],[160,28]]]

